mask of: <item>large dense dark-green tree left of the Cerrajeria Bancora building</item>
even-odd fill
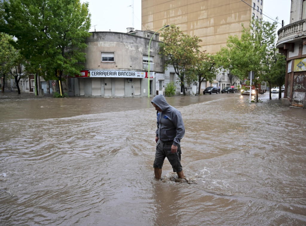
[[[1,28],[17,38],[14,46],[35,77],[42,71],[45,80],[55,79],[61,85],[64,75],[80,75],[85,62],[82,49],[90,36],[87,2],[10,0],[2,7],[6,23]]]

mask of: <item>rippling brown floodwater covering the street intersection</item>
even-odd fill
[[[154,179],[148,98],[0,93],[0,225],[306,225],[306,110],[272,98],[166,98],[188,184]]]

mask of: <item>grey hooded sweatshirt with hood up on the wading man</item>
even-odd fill
[[[151,103],[156,104],[162,111],[157,113],[156,136],[161,141],[174,140],[178,146],[185,134],[185,126],[181,112],[167,103],[163,95],[156,95]]]

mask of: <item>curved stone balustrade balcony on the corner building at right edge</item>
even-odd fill
[[[290,42],[294,40],[296,37],[306,35],[306,20],[299,20],[292,24],[288,24],[285,27],[282,27],[278,30],[278,44],[282,44],[284,42]]]

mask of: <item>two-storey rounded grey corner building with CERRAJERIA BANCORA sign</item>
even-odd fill
[[[85,49],[85,69],[74,78],[74,94],[85,97],[147,97],[155,95],[155,73],[163,73],[159,33],[92,32]],[[153,36],[154,35],[154,36]],[[149,42],[150,45],[150,57]],[[150,64],[150,82],[148,66]]]

